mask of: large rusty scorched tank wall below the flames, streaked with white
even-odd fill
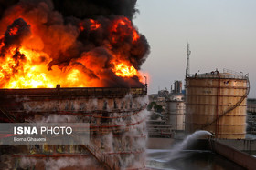
[[[64,167],[74,167],[77,160],[82,168],[78,156],[87,157],[84,168],[144,168],[145,87],[0,89],[0,101],[2,122],[90,123],[89,145],[27,145],[22,152],[17,145],[12,169],[24,167],[27,160],[27,168],[40,169],[37,164],[45,161],[41,166],[48,169],[51,157],[57,163],[69,157],[72,161]]]

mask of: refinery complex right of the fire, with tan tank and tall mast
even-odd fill
[[[182,81],[176,80],[170,92],[165,89],[158,95],[149,95],[150,104],[162,107],[160,116],[148,122],[149,135],[182,138],[197,130],[207,130],[214,138],[244,139],[249,76],[228,69],[190,74],[190,54],[187,44],[185,90]],[[150,110],[157,113],[153,108]]]

